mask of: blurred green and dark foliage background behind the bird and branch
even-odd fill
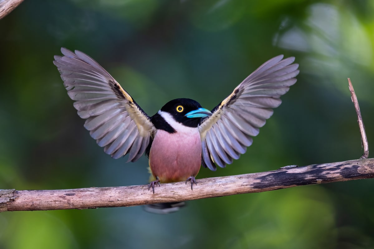
[[[198,178],[362,155],[347,77],[373,143],[374,1],[26,0],[0,20],[0,189],[128,186],[89,136],[53,55],[97,60],[153,115],[167,101],[212,109],[254,69],[295,56],[297,83],[245,155]],[[169,215],[141,206],[0,214],[0,248],[374,248],[374,180],[203,199]]]

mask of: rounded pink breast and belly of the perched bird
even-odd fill
[[[149,153],[149,166],[161,183],[186,181],[199,173],[201,165],[201,140],[196,133],[170,134],[159,130]]]

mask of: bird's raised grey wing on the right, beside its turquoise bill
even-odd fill
[[[281,105],[281,99],[296,82],[298,64],[294,57],[274,57],[240,83],[212,110],[212,116],[199,126],[202,140],[202,165],[216,170],[246,152],[259,128]]]

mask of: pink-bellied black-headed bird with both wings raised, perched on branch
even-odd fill
[[[178,181],[190,182],[192,190],[201,166],[216,171],[239,159],[299,73],[294,57],[279,55],[252,72],[211,111],[195,100],[179,98],[149,116],[90,56],[64,47],[61,53],[53,63],[78,115],[86,119],[84,127],[114,159],[127,156],[127,162],[135,162],[148,156],[154,178],[148,190],[153,193],[159,183]]]

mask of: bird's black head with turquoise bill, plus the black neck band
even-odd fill
[[[168,113],[170,115],[163,115],[162,113]],[[168,120],[169,116],[171,116],[173,121],[183,124],[184,126],[197,127],[202,118],[210,115],[211,112],[202,108],[195,100],[173,99],[166,103],[160,111],[151,118],[151,121],[157,129],[175,132],[172,120]]]

